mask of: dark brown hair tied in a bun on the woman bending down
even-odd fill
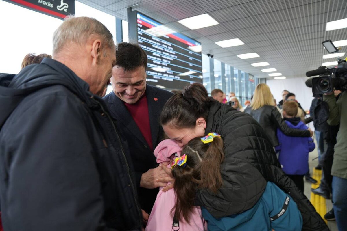
[[[201,83],[193,83],[164,104],[160,113],[160,124],[170,124],[176,128],[195,127],[197,118],[203,117],[207,121],[213,101]]]

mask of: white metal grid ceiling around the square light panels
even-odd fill
[[[347,39],[347,28],[325,31],[328,21],[347,18],[346,0],[81,0],[82,3],[127,19],[127,7],[160,21],[202,43],[203,53],[260,78],[260,70],[276,68],[287,78],[302,77],[318,68],[324,51],[321,42]],[[209,14],[220,24],[189,30],[177,20]],[[214,42],[239,38],[245,45],[221,48]],[[236,55],[256,52],[258,58],[241,60]],[[347,46],[341,52],[347,53]],[[253,67],[254,62],[270,66]]]

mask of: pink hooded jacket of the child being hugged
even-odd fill
[[[181,156],[181,150],[177,143],[173,140],[163,140],[158,144],[154,150],[154,156],[157,163],[170,162],[176,160]],[[168,165],[171,168],[171,165]],[[170,184],[170,183],[169,183]],[[174,219],[175,210],[173,208],[176,204],[176,196],[174,189],[163,192],[162,187],[156,196],[152,212],[146,225],[146,231],[156,230],[180,230],[180,231],[204,231],[207,230],[207,224],[202,218],[200,206],[194,206],[191,213],[189,222],[178,221]]]

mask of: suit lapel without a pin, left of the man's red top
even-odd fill
[[[122,123],[138,140],[142,143],[147,144],[133,117],[130,115],[124,102],[119,99],[113,92],[110,94],[108,100],[109,110],[111,115]]]

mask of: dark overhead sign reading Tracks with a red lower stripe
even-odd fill
[[[64,19],[75,14],[75,0],[7,0],[37,12]]]

